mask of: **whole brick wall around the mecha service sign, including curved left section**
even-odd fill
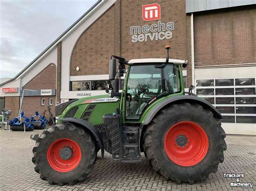
[[[142,5],[159,3],[161,22],[174,22],[175,30],[169,40],[153,40],[132,43],[130,26],[143,26],[157,23],[145,22],[142,18]],[[109,59],[113,53],[127,60],[135,58],[166,58],[165,45],[171,44],[171,58],[191,61],[190,16],[185,13],[184,0],[156,1],[117,1],[102,17],[93,23],[79,37],[71,56],[72,75],[97,75],[109,73]],[[76,71],[79,66],[80,70]],[[191,74],[191,68],[187,68]],[[188,76],[191,84],[191,76]]]

